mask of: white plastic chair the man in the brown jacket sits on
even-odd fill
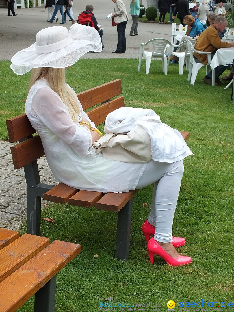
[[[190,55],[190,66],[189,66],[189,72],[188,72],[188,81],[191,79],[190,83],[191,85],[194,85],[194,82],[197,77],[197,73],[202,66],[206,66],[206,75],[210,72],[210,63],[211,63],[211,52],[201,52],[194,49],[193,44],[187,40],[187,46],[188,46],[188,52]],[[207,64],[202,63],[196,63],[194,60],[193,52],[197,52],[199,54],[206,54],[207,55]],[[214,70],[212,70],[212,85],[214,85]]]

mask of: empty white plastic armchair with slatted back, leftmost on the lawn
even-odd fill
[[[153,45],[152,52],[144,51],[144,47],[147,46],[149,43],[152,43]],[[168,62],[167,62],[167,56],[166,56],[167,48],[169,48],[169,55],[171,55],[171,42],[162,38],[151,39],[147,41],[146,43],[141,43],[138,71],[140,71],[141,61],[142,61],[142,57],[144,54],[146,56],[145,73],[147,75],[149,74],[149,67],[150,67],[150,62],[151,62],[152,57],[162,58],[163,71],[164,71],[164,74],[167,75],[169,61],[170,61],[170,59],[168,58]]]

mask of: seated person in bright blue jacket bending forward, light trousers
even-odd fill
[[[206,25],[204,23],[202,23],[201,21],[199,21],[198,18],[193,17],[192,15],[186,15],[183,19],[183,23],[185,25],[188,25],[188,30],[186,32],[186,35],[183,36],[180,40],[180,42],[178,41],[176,44],[178,45],[181,42],[186,41],[186,39],[190,40],[190,39],[197,39],[199,37],[199,35],[207,28]],[[186,50],[186,45],[182,45],[179,46],[178,48],[174,48],[174,52],[185,52]],[[171,61],[178,61],[178,57],[172,55],[170,58]]]

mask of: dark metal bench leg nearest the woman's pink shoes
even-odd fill
[[[118,212],[115,257],[124,261],[127,261],[129,256],[132,202],[133,199],[130,199]]]

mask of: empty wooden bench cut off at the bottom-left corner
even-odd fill
[[[55,310],[56,274],[80,253],[66,241],[0,228],[0,311],[14,312],[35,294],[34,312]]]

